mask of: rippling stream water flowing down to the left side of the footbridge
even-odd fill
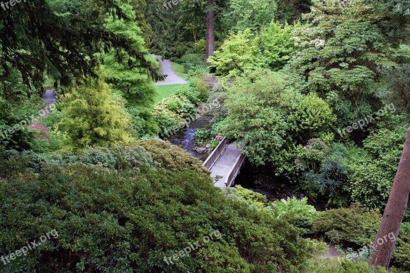
[[[194,121],[191,121],[189,127],[179,130],[175,135],[168,137],[168,141],[172,144],[181,147],[183,150],[186,150],[192,156],[205,161],[208,157],[208,154],[200,155],[193,149],[197,146],[195,144],[195,130],[199,128],[211,128],[211,122],[209,118],[199,117]]]

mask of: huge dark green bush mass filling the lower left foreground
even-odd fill
[[[89,150],[81,156],[87,164],[43,164],[38,173],[27,169],[27,158],[0,159],[7,166],[0,179],[0,253],[52,229],[58,233],[2,270],[303,271],[314,245],[290,224],[224,197],[201,163],[181,149],[156,140],[137,145],[160,167],[143,161],[117,169],[120,154],[122,162],[135,158],[126,148],[116,155]],[[173,264],[164,260],[214,230],[219,239]]]

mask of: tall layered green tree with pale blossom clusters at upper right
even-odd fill
[[[298,52],[293,67],[308,78],[310,89],[322,95],[336,91],[355,107],[363,97],[375,97],[380,69],[397,65],[387,43],[376,4],[363,0],[315,1],[296,29]]]

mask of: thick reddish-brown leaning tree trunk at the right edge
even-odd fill
[[[392,258],[393,249],[400,225],[403,221],[404,211],[407,208],[410,195],[410,128],[407,130],[406,142],[401,154],[399,167],[394,178],[392,191],[388,197],[387,205],[381,219],[379,231],[373,244],[375,252],[369,264],[380,265],[387,268]],[[392,236],[394,234],[394,236]],[[394,240],[392,238],[394,237]],[[387,238],[387,239],[386,239]]]

